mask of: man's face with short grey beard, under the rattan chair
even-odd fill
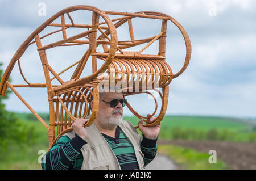
[[[97,120],[100,126],[104,129],[115,129],[119,123],[123,120],[123,107],[119,102],[117,106],[110,107],[109,103],[113,99],[122,99],[123,94],[117,92],[104,93],[101,96]],[[105,100],[106,102],[103,102]]]

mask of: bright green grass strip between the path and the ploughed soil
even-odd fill
[[[200,153],[193,149],[183,148],[174,145],[159,145],[160,154],[167,155],[179,165],[180,169],[185,170],[222,170],[228,169],[228,166],[217,159],[216,163],[209,163],[211,155]]]

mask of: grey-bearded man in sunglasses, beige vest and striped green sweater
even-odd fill
[[[77,119],[72,124],[73,131],[61,136],[44,156],[42,168],[144,169],[156,155],[160,124],[144,127],[140,120],[141,140],[134,126],[123,120],[126,102],[122,93],[102,92],[94,123],[84,128],[88,119]],[[153,120],[154,117],[148,119]]]

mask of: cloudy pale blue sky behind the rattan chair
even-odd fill
[[[45,14],[42,14],[42,3]],[[172,80],[168,99],[168,115],[210,115],[256,117],[256,1],[253,0],[181,0],[181,1],[3,1],[0,0],[0,62],[9,64],[24,40],[56,12],[73,5],[89,5],[105,11],[156,11],[172,16],[187,31],[192,45],[191,61],[179,77]],[[40,14],[41,13],[41,14]],[[84,17],[76,16],[76,22]],[[91,16],[85,17],[90,20]],[[110,18],[113,18],[111,16]],[[146,22],[146,20],[145,20]],[[143,31],[147,28],[147,32]],[[138,24],[135,37],[155,36],[158,26]],[[125,28],[118,40],[125,40]],[[82,48],[49,52],[48,60],[60,71],[58,62],[79,60]],[[147,52],[154,52],[154,47]],[[48,55],[48,54],[47,54]],[[183,66],[185,44],[179,30],[168,23],[166,61],[176,73]],[[43,82],[42,64],[36,48],[26,50],[20,60],[30,82]],[[70,63],[70,61],[69,61]],[[22,80],[18,66],[11,83]],[[22,82],[23,83],[23,82]],[[36,112],[47,112],[46,89],[16,89]],[[129,96],[134,109],[145,115],[154,111],[154,100],[146,95]],[[159,100],[159,99],[158,99]],[[29,112],[14,95],[5,100],[10,111]],[[158,103],[160,104],[160,102]],[[159,110],[159,108],[158,108]],[[131,115],[125,108],[125,114]]]

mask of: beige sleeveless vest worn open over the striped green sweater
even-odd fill
[[[141,136],[129,121],[122,121],[122,123],[119,124],[119,127],[131,144],[133,144],[139,169],[144,169],[144,155],[141,152]],[[106,142],[100,131],[98,131],[96,124],[93,123],[90,127],[86,127],[85,129],[88,136],[86,137],[87,144],[81,148],[84,157],[81,169],[121,169],[117,157],[115,157],[108,142]],[[69,132],[63,134],[63,136],[68,136],[71,139],[75,137],[75,133]]]

